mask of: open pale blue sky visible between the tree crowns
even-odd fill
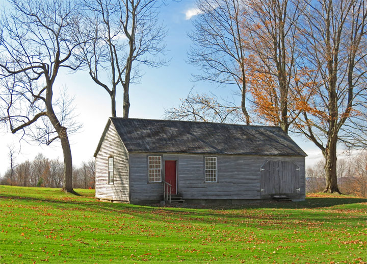
[[[167,57],[171,61],[168,66],[161,68],[142,68],[145,74],[141,82],[130,86],[129,117],[162,119],[165,108],[178,106],[179,99],[187,97],[194,85],[190,81],[191,74],[198,70],[186,63],[191,43],[187,33],[192,29],[191,19],[195,18],[195,13],[194,0],[168,2],[162,7],[160,15],[168,30],[165,41]],[[55,88],[63,86],[68,87],[68,93],[75,98],[75,111],[78,114],[76,118],[83,124],[80,132],[70,136],[73,164],[77,166],[93,157],[110,116],[110,98],[106,91],[90,80],[86,71],[58,76]],[[212,91],[221,97],[231,97],[231,89],[199,82],[195,84],[194,91]],[[117,92],[117,115],[122,116],[122,89]],[[19,136],[12,135],[4,128],[0,129],[0,175],[9,167],[7,145],[15,146],[17,162],[32,160],[39,152],[48,158],[59,157],[62,160],[60,142],[54,142],[51,146],[38,146],[35,142],[25,141],[20,144]],[[299,136],[291,136],[308,154],[306,165],[312,165],[321,158],[321,152],[312,142]]]

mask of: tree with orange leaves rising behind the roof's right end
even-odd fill
[[[261,122],[288,132],[306,107],[317,72],[301,59],[297,43],[302,1],[247,1],[241,32],[252,111]]]

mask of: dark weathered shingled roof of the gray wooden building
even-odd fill
[[[110,117],[128,152],[307,156],[279,127]]]

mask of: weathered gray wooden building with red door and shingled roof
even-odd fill
[[[305,156],[279,127],[110,117],[94,153],[95,194],[132,204],[299,201]]]

